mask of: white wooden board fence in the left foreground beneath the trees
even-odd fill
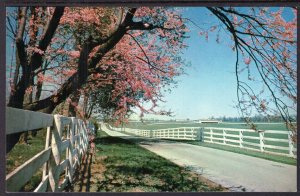
[[[75,170],[88,150],[86,123],[74,117],[6,108],[6,135],[47,128],[45,149],[6,176],[6,190],[19,191],[39,170],[34,192],[60,192],[72,183]]]

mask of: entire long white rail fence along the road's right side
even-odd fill
[[[297,148],[292,133],[279,130],[233,129],[217,127],[178,127],[156,130],[115,128],[133,135],[176,140],[199,140],[243,149],[296,158]]]

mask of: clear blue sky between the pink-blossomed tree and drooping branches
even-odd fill
[[[290,17],[290,13],[286,14]],[[211,16],[206,8],[184,8],[183,17],[197,23],[200,27],[216,24],[218,20]],[[189,66],[186,74],[177,78],[177,87],[171,93],[165,93],[165,102],[159,103],[159,108],[171,110],[175,119],[206,119],[210,117],[237,117],[235,53],[231,50],[229,36],[222,34],[220,43],[215,41],[215,33],[209,34],[208,40],[200,36],[199,28],[189,23],[189,46],[184,58]],[[7,38],[6,50],[11,52],[11,45]],[[10,55],[7,55],[7,58]],[[7,59],[10,62],[10,59]],[[8,73],[7,73],[8,74]],[[256,86],[255,86],[256,87]],[[257,84],[257,88],[261,88]],[[132,119],[138,118],[137,114]],[[145,118],[169,119],[169,117],[145,115]]]

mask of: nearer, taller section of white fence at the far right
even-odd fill
[[[292,132],[279,130],[204,128],[204,142],[216,143],[249,150],[296,158],[297,149]]]

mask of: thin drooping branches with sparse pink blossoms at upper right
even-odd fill
[[[265,116],[280,115],[296,138],[297,126],[292,122],[297,106],[297,8],[208,9],[220,20],[215,28],[225,27],[233,41],[237,107],[245,120],[251,122],[253,109]],[[285,9],[294,12],[292,20],[284,18]],[[253,89],[251,81],[261,82],[264,88]],[[256,126],[252,123],[252,127]]]

